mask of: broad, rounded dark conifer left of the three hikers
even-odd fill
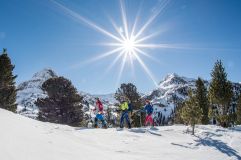
[[[38,99],[39,119],[42,121],[80,125],[83,120],[82,97],[64,77],[55,77],[42,85],[48,97]]]

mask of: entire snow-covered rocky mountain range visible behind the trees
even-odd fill
[[[57,74],[51,69],[43,69],[37,72],[34,76],[18,85],[17,103],[18,113],[31,118],[36,118],[38,114],[38,107],[34,104],[37,98],[46,97],[46,93],[41,89],[42,84],[49,78],[57,77]],[[188,97],[188,89],[195,88],[196,79],[179,76],[175,73],[168,74],[160,83],[159,86],[153,89],[150,93],[142,96],[144,99],[152,101],[155,110],[160,111],[165,116],[169,116],[171,111],[175,108],[175,103],[182,102]],[[204,81],[208,87],[209,82]],[[241,84],[233,83],[234,100],[238,98],[241,92]],[[105,108],[113,106],[117,101],[114,94],[106,95],[91,95],[80,91],[84,100],[93,107],[95,98],[99,97]]]

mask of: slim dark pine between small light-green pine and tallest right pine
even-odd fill
[[[207,89],[201,78],[198,78],[198,80],[196,81],[196,100],[197,105],[202,109],[202,124],[208,124],[209,103]]]

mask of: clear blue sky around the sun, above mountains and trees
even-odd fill
[[[108,17],[122,26],[118,0],[56,0],[78,15],[115,33]],[[126,0],[127,21],[134,22],[142,6],[137,29],[140,29],[163,0]],[[176,0],[170,1],[143,32],[143,36],[161,33],[146,43],[171,44],[179,48],[145,48],[159,62],[141,56],[157,82],[168,73],[210,79],[217,59],[224,62],[228,78],[241,81],[241,1]],[[7,48],[18,75],[17,83],[28,80],[46,67],[70,79],[79,89],[90,93],[111,93],[117,88],[120,62],[106,72],[118,54],[85,63],[109,51],[100,43],[113,39],[61,10],[49,0],[1,0],[0,48]],[[116,33],[115,33],[116,34]],[[128,64],[128,63],[127,63]],[[134,60],[134,75],[126,65],[120,82],[134,83],[140,92],[155,85]]]

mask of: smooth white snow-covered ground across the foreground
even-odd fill
[[[1,160],[240,160],[241,127],[159,127],[162,136],[141,129],[84,129],[43,123],[0,109]]]

